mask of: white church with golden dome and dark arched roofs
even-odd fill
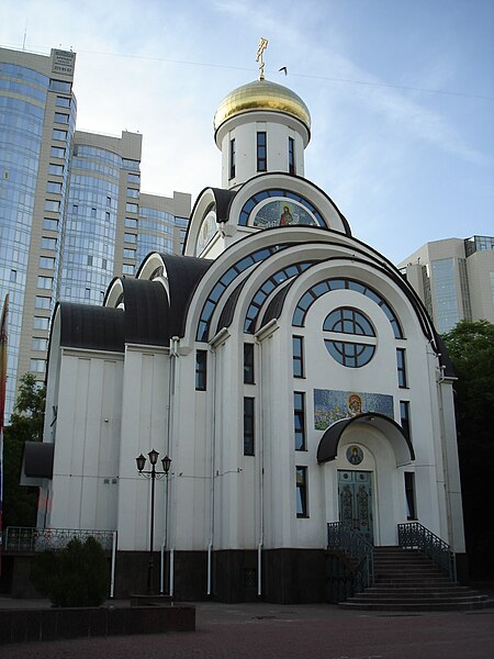
[[[299,96],[261,76],[214,130],[222,188],[183,255],[56,309],[38,526],[115,530],[116,593],[142,591],[155,449],[155,579],[177,600],[325,601],[337,522],[396,546],[417,521],[461,565],[454,378],[422,302],[304,178]]]

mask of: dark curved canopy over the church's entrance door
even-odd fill
[[[409,438],[403,432],[402,426],[384,414],[366,412],[364,414],[358,414],[350,418],[341,418],[327,428],[317,447],[317,462],[319,465],[322,462],[334,460],[337,457],[338,444],[341,435],[349,425],[355,423],[372,424],[386,436],[393,447],[397,467],[402,467],[403,465],[407,465],[412,460],[415,460],[414,447],[412,446]]]

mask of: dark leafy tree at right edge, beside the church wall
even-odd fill
[[[475,578],[492,578],[494,325],[461,321],[442,338],[458,378],[454,405],[470,569]]]

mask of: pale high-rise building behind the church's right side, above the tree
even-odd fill
[[[440,334],[461,320],[494,323],[494,237],[427,243],[398,268]]]

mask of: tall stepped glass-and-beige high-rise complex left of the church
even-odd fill
[[[0,48],[0,301],[10,293],[5,415],[44,380],[59,299],[100,303],[148,252],[179,253],[190,196],[141,194],[142,135],[76,130],[76,54]]]

